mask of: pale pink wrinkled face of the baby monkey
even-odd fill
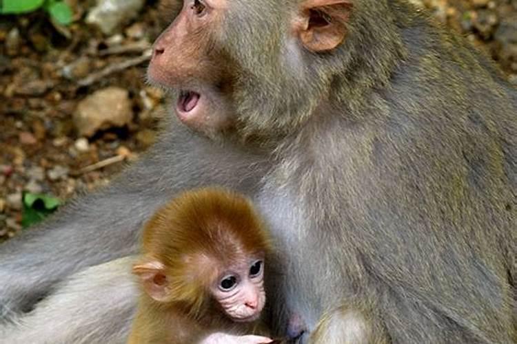
[[[210,290],[232,321],[259,319],[265,304],[263,259],[226,271]]]

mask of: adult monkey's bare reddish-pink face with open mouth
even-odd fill
[[[187,126],[216,133],[231,125],[230,104],[214,85],[221,82],[221,57],[210,47],[219,31],[225,0],[184,0],[174,22],[154,43],[148,77],[179,89],[176,115]]]

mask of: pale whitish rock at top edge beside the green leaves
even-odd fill
[[[86,22],[97,25],[103,34],[110,35],[141,10],[144,0],[97,0],[86,17]]]

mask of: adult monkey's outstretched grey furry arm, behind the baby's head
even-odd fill
[[[141,224],[177,191],[201,184],[243,186],[255,170],[246,161],[237,151],[172,125],[112,185],[78,197],[50,221],[0,247],[0,319],[30,310],[73,272],[134,253]]]

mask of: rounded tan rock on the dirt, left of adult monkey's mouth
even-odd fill
[[[99,129],[123,127],[133,118],[132,103],[126,89],[101,89],[77,105],[74,125],[80,136],[93,136]]]

